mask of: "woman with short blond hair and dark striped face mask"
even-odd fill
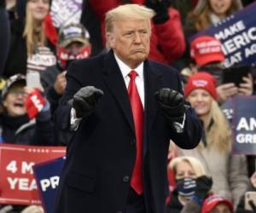
[[[193,157],[177,157],[172,159],[169,169],[174,172],[176,187],[168,198],[167,212],[181,212],[190,199],[202,203],[212,187],[212,179],[206,176],[201,162]]]

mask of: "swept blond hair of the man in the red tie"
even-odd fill
[[[154,10],[138,4],[124,4],[111,9],[106,14],[106,32],[113,32],[113,22],[116,20],[150,20],[154,16]]]

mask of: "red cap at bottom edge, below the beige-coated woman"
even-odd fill
[[[204,204],[201,208],[201,213],[209,213],[216,205],[218,204],[226,204],[230,211],[233,212],[233,204],[229,199],[225,199],[219,195],[212,195],[209,198],[205,199]]]

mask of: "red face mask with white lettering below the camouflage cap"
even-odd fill
[[[79,52],[68,53],[66,49],[58,47],[57,55],[58,59],[61,61],[61,66],[67,68],[73,60],[85,59],[90,56],[91,47],[90,45],[85,46]]]

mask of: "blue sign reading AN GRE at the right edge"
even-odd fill
[[[256,96],[233,98],[233,153],[256,154]]]

